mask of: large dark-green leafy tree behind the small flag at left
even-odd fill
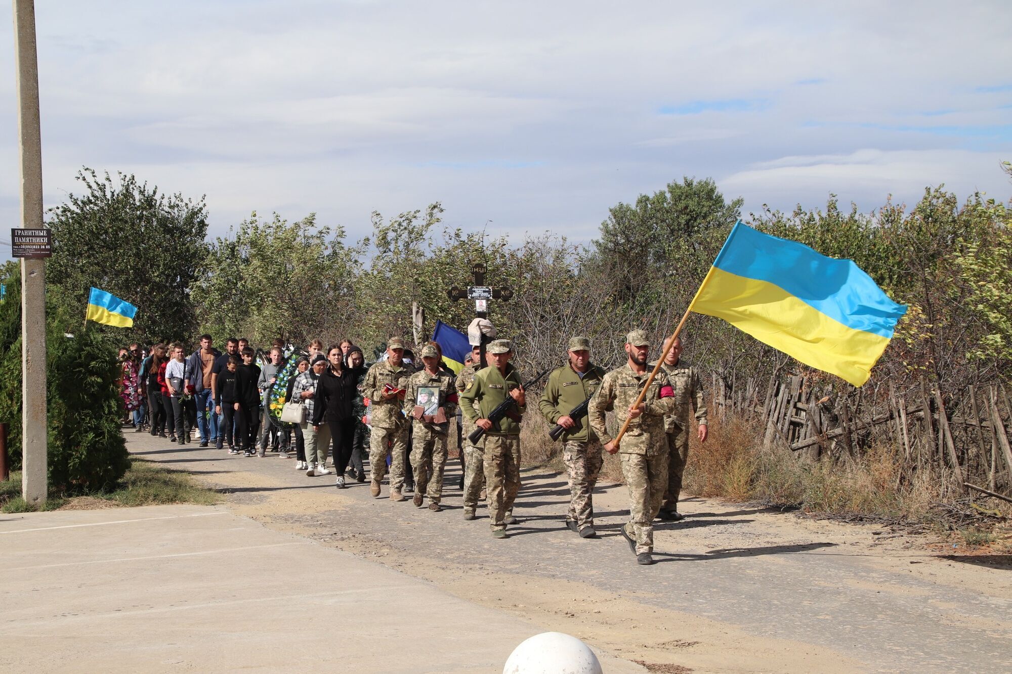
[[[196,317],[189,291],[203,259],[206,206],[166,195],[133,175],[83,168],[86,191],[50,210],[53,257],[47,281],[62,286],[68,309],[84,319],[90,286],[137,306],[134,328],[117,338],[192,338]],[[100,332],[105,328],[99,328]]]

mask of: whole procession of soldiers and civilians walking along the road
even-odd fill
[[[454,372],[435,341],[418,355],[400,337],[368,364],[361,348],[343,340],[306,349],[275,340],[257,351],[246,339],[229,338],[225,352],[201,335],[187,355],[183,344],[139,344],[120,350],[124,423],[172,442],[198,442],[230,454],[282,458],[308,477],[333,475],[369,481],[380,498],[389,472],[389,497],[439,512],[447,439],[455,427],[463,490],[463,517],[477,518],[486,500],[492,535],[508,536],[517,523],[513,505],[520,487],[520,422],[526,391],[511,363],[507,339],[475,346]],[[670,348],[668,348],[670,345]],[[630,518],[621,527],[639,564],[653,564],[653,521],[681,518],[678,497],[694,412],[698,437],[706,439],[706,408],[695,368],[680,358],[681,341],[665,342],[665,358],[644,391],[654,363],[642,330],[626,336],[626,362],[605,372],[590,358],[590,340],[573,337],[566,362],[555,369],[537,409],[556,426],[569,474],[569,528],[594,538],[593,491],[603,451],[617,453],[629,492]],[[377,349],[378,352],[378,349]],[[605,424],[613,410],[627,427],[620,442]],[[292,450],[293,447],[293,450]],[[327,467],[328,456],[332,469]],[[369,475],[364,469],[368,458]]]

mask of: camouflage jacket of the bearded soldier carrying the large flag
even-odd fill
[[[648,367],[643,374],[637,374],[628,363],[625,363],[601,380],[601,387],[590,401],[587,418],[602,444],[612,440],[604,424],[604,412],[613,406],[615,422],[620,428],[628,418],[629,407],[636,402],[651,371],[652,368]],[[619,452],[653,455],[667,450],[664,416],[674,411],[675,396],[671,382],[663,369],[654,377],[643,402],[646,404],[646,409],[629,423],[628,430],[618,444]]]

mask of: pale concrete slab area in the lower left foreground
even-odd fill
[[[544,631],[223,507],[0,515],[0,568],[5,672],[501,672]]]

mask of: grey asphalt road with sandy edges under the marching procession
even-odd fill
[[[690,499],[683,522],[657,527],[660,563],[639,567],[617,534],[627,517],[621,486],[598,490],[602,537],[585,540],[562,521],[564,479],[525,472],[516,508],[522,522],[496,540],[484,509],[479,520],[462,520],[455,460],[444,490],[448,509],[433,513],[371,499],[367,484],[338,491],[331,477],[292,470],[292,459],[181,448],[146,434],[129,442],[139,457],[222,487],[231,507],[270,526],[634,659],[700,671],[1012,670],[1008,561],[940,558],[881,527]],[[569,604],[553,603],[556,594]],[[631,602],[627,610],[609,613],[620,601]]]

